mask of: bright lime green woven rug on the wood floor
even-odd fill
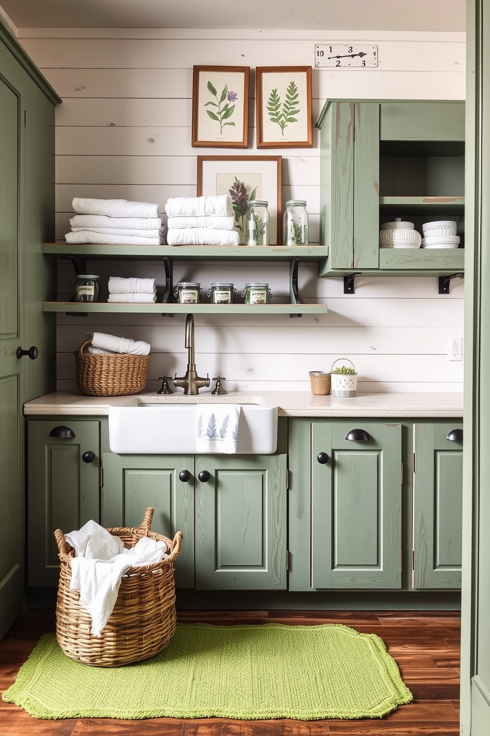
[[[4,692],[36,718],[381,718],[412,695],[375,634],[342,624],[179,623],[134,665],[74,662],[45,634]]]

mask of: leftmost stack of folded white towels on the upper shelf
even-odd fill
[[[162,218],[158,205],[129,202],[127,199],[83,199],[73,197],[71,233],[67,243],[115,245],[159,245],[162,242]]]

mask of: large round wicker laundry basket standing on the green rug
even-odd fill
[[[108,528],[125,547],[149,537],[167,544],[170,554],[160,562],[131,567],[120,581],[118,598],[101,636],[90,634],[92,619],[79,603],[78,590],[70,590],[73,548],[60,529],[54,532],[60,565],[56,604],[56,636],[67,657],[93,667],[120,667],[158,654],[170,644],[176,629],[176,595],[173,563],[179,556],[182,533],[173,540],[151,531],[154,509],[146,509],[138,527]]]

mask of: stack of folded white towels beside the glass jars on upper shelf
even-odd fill
[[[231,197],[170,197],[165,205],[168,245],[239,245]]]

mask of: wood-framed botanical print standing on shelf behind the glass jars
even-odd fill
[[[197,195],[229,194],[240,244],[250,199],[264,199],[270,213],[270,245],[281,244],[281,156],[198,156]]]

